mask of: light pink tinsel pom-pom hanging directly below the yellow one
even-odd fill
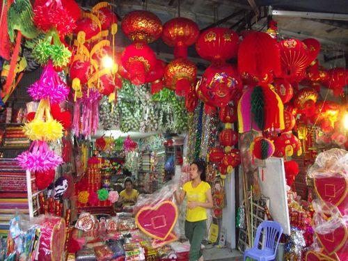
[[[49,171],[63,163],[63,159],[49,150],[45,141],[33,141],[28,151],[23,152],[17,157],[19,165],[31,172]]]

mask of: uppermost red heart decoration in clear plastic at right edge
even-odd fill
[[[347,197],[348,177],[341,173],[331,177],[315,177],[314,187],[321,200],[338,206]]]

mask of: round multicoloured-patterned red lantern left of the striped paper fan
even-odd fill
[[[235,97],[240,84],[237,71],[232,65],[210,65],[203,73],[196,92],[207,105],[223,107]]]

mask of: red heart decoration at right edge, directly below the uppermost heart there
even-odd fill
[[[340,248],[342,248],[342,246],[344,246],[347,241],[347,224],[342,220],[340,220],[339,222],[340,225],[338,226],[338,228],[335,228],[335,230],[329,233],[315,233],[317,235],[317,238],[319,239],[319,242],[322,244],[326,252],[329,253],[329,255],[340,250]]]

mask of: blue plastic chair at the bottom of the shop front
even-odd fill
[[[264,244],[262,249],[260,249],[258,248],[258,243],[262,229],[264,230]],[[263,221],[260,223],[256,230],[253,248],[249,248],[244,252],[244,261],[247,257],[260,261],[274,260],[282,233],[283,228],[276,221]]]

